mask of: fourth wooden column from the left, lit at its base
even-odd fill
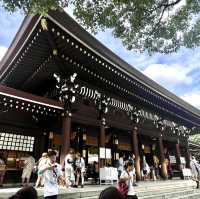
[[[162,176],[163,176],[164,179],[167,179],[167,177],[168,177],[168,175],[167,175],[167,165],[166,165],[166,162],[165,162],[165,154],[164,154],[162,134],[159,135],[158,143],[159,143],[159,149],[160,149],[160,163],[161,163]]]

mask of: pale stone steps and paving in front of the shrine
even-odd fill
[[[60,187],[60,197],[59,198],[98,198],[99,193],[110,185],[86,185],[84,188],[64,188]],[[13,195],[20,188],[2,188],[0,189],[0,199],[5,199]],[[138,186],[135,187],[136,192],[138,193],[139,198],[148,198],[148,195],[153,194],[172,194],[173,192],[177,194],[177,191],[181,193],[189,193],[189,191],[194,192],[195,183],[191,180],[167,180],[167,181],[148,181],[148,182],[139,182]],[[43,198],[43,188],[38,188],[38,195],[40,198]],[[149,196],[149,198],[151,198]],[[167,197],[166,197],[167,198]]]

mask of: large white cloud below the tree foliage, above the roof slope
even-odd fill
[[[162,86],[174,91],[177,86],[190,85],[193,79],[188,75],[191,68],[178,64],[152,64],[143,73]]]

